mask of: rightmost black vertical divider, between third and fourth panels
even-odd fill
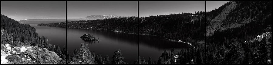
[[[207,1],[205,1],[205,64],[207,63]]]

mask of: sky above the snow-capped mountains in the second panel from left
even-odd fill
[[[67,2],[67,18],[77,19],[90,15],[114,14],[119,16],[136,16],[135,2]]]

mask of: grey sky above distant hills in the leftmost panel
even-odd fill
[[[66,19],[66,2],[1,2],[1,14],[14,20]]]

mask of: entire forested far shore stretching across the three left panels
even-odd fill
[[[102,29],[115,32],[164,36],[176,41],[191,42],[192,40],[204,40],[204,13],[180,13],[169,15],[157,15],[139,18],[120,17],[97,20],[81,20],[67,22],[67,28],[77,29]],[[38,26],[65,27],[65,22],[39,24]]]

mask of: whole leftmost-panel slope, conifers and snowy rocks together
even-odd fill
[[[35,31],[30,25],[1,15],[1,63],[63,63],[53,52],[55,46]]]

